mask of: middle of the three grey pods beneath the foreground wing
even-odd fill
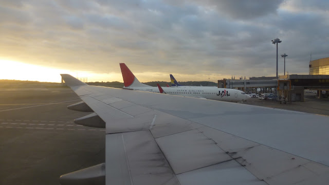
[[[76,124],[96,127],[96,128],[105,128],[105,121],[102,120],[96,113],[89,114],[87,116],[77,118],[74,120]]]

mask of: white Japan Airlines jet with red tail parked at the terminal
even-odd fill
[[[124,82],[124,88],[148,91],[152,93],[159,93],[158,87],[152,87],[146,84],[142,84],[138,81],[132,71],[124,64],[120,63],[121,73]],[[179,88],[163,87],[169,95],[178,95],[194,98],[206,98],[210,100],[229,101],[229,102],[242,102],[250,99],[250,96],[246,95],[241,90],[227,89],[227,88],[215,88],[215,87],[191,87],[180,86]]]

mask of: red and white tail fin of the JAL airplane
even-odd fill
[[[124,87],[150,87],[150,85],[140,83],[133,72],[124,63],[120,63],[120,68]]]

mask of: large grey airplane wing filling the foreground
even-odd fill
[[[329,181],[327,116],[88,86],[62,77],[106,124],[105,164],[95,167],[106,184]],[[63,176],[61,183],[80,184],[79,178]],[[85,181],[92,179],[93,174]]]

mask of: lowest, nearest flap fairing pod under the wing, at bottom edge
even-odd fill
[[[103,185],[105,184],[105,163],[62,175],[60,177],[60,183],[62,185]]]

